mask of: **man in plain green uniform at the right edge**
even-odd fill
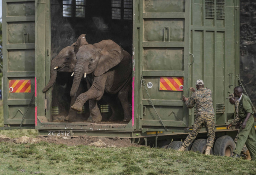
[[[240,100],[238,105],[238,117],[240,120],[237,122],[236,128],[239,128],[242,122],[236,143],[236,155],[234,156],[239,157],[244,144],[246,144],[252,160],[256,160],[256,134],[251,100],[242,92],[242,87],[237,86],[234,88],[234,96]]]

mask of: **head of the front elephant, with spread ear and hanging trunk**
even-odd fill
[[[75,96],[82,76],[94,73],[101,76],[123,59],[123,49],[112,40],[102,40],[96,44],[82,45],[76,54],[77,62],[70,96]]]

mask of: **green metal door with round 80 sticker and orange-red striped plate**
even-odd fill
[[[181,99],[189,88],[189,3],[143,0],[140,70],[147,90],[142,84],[142,127],[161,127],[147,92],[166,127],[188,126],[188,110]]]

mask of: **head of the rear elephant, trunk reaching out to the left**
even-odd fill
[[[75,43],[74,43],[75,44]],[[72,45],[74,45],[72,44]],[[54,57],[51,61],[50,67],[50,80],[44,87],[43,92],[49,90],[55,83],[57,77],[57,71],[59,72],[73,72],[76,65],[76,54],[74,52],[74,46],[65,47],[60,53]]]

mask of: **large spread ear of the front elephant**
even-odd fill
[[[123,49],[112,40],[103,40],[94,44],[99,51],[99,62],[94,71],[95,76],[100,76],[116,66],[123,59]]]

